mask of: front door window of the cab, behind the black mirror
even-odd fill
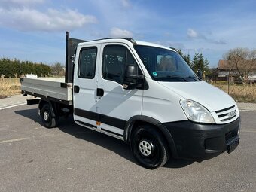
[[[108,45],[103,50],[102,77],[123,84],[123,74],[126,65],[136,64],[135,59],[126,47]],[[142,74],[139,71],[139,74]]]

